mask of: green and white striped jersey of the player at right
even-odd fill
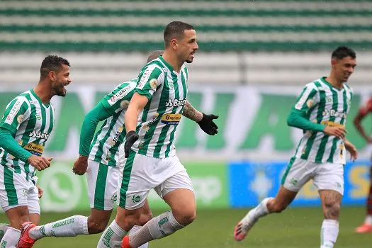
[[[294,108],[304,111],[313,123],[346,125],[352,97],[353,91],[348,85],[336,89],[322,77],[305,86]],[[307,131],[298,144],[295,157],[321,164],[345,164],[344,141],[323,132]]]

